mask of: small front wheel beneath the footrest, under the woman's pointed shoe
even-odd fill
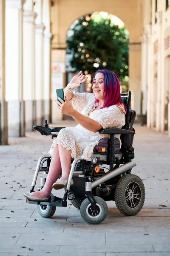
[[[51,202],[54,202],[53,194],[51,194]],[[43,218],[51,218],[56,211],[56,206],[38,204],[37,210]]]

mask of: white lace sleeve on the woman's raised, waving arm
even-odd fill
[[[87,105],[86,95],[87,93],[73,92],[72,106],[79,113],[81,113],[83,108]]]

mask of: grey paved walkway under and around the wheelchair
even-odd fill
[[[0,256],[170,255],[170,137],[136,126],[133,173],[144,181],[144,207],[127,217],[109,202],[108,217],[99,225],[85,223],[70,202],[51,219],[26,203],[23,192],[29,191],[37,160],[51,143],[50,137],[31,132],[0,147]]]

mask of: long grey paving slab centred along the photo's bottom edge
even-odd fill
[[[116,253],[116,252],[153,252],[152,245],[143,244],[143,245],[130,245],[130,244],[109,244],[109,245],[100,245],[98,244],[88,244],[88,246],[81,246],[77,244],[77,246],[74,245],[61,245],[59,249],[59,253],[61,252],[67,252],[67,253]],[[88,254],[87,254],[88,255]]]

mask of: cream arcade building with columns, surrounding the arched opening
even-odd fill
[[[65,87],[66,35],[95,11],[129,31],[131,108],[170,134],[170,0],[0,0],[0,144],[62,119],[55,90]]]

